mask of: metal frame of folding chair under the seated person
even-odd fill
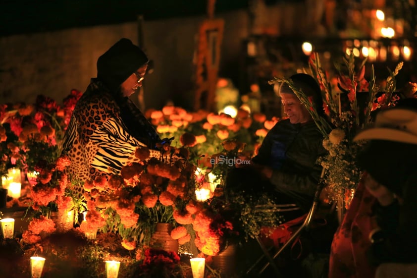
[[[317,211],[317,208],[318,208],[320,193],[321,193],[321,191],[324,187],[324,181],[323,181],[324,173],[325,173],[325,169],[323,168],[323,170],[321,172],[320,180],[317,184],[317,188],[316,188],[314,198],[313,198],[313,204],[310,208],[310,211],[306,215],[301,217],[301,218],[304,219],[304,222],[300,225],[300,227],[297,230],[295,230],[291,234],[291,236],[288,238],[288,240],[285,243],[283,243],[283,245],[275,252],[275,254],[273,256],[271,256],[271,254],[270,254],[270,249],[272,249],[273,247],[268,249],[265,246],[265,244],[262,242],[262,240],[260,238],[261,235],[256,237],[256,240],[257,240],[259,246],[262,249],[263,255],[248,269],[248,271],[246,272],[247,275],[250,274],[262,262],[262,259],[264,257],[266,257],[268,262],[263,265],[263,267],[258,272],[258,275],[261,275],[266,270],[266,268],[268,266],[271,266],[274,273],[276,274],[277,278],[282,278],[283,277],[283,275],[279,271],[274,259],[276,259],[280,254],[282,254],[282,252],[297,239],[297,237],[300,235],[300,233],[303,230],[307,229],[309,227],[309,225],[311,224],[313,216],[315,215],[315,213]],[[296,210],[296,209],[298,209],[298,208],[296,207],[295,204],[275,205],[274,208],[270,208],[270,210],[273,210],[275,212],[285,212],[285,211],[291,211],[291,210]]]

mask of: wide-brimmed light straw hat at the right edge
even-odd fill
[[[411,102],[417,103],[417,99]],[[380,111],[374,126],[359,132],[354,141],[364,139],[417,144],[417,110],[401,106]]]

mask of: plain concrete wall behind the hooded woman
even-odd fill
[[[247,13],[240,10],[217,16],[225,20],[220,71],[224,67],[238,71]],[[195,35],[203,19],[144,23],[145,50],[155,61],[155,71],[144,82],[147,108],[160,108],[168,100],[191,107]],[[38,94],[59,103],[73,88],[84,91],[97,75],[97,58],[122,37],[137,43],[137,22],[0,38],[0,103],[33,103]],[[136,96],[132,99],[137,101]]]

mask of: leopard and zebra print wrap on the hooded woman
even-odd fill
[[[132,105],[129,103],[130,109]],[[141,116],[140,120],[146,120],[137,108],[136,113]],[[137,128],[150,126],[149,122],[146,125],[137,123]],[[152,132],[155,130],[144,133]],[[159,139],[157,135],[154,137]],[[100,81],[93,79],[77,102],[64,136],[62,155],[71,160],[69,174],[72,178],[85,182],[103,173],[118,174],[123,166],[138,162],[134,155],[137,148],[146,147],[150,147],[150,157],[160,157],[159,151],[153,150],[152,146],[147,146],[129,132],[114,97]],[[79,193],[84,191],[81,186],[75,190]]]

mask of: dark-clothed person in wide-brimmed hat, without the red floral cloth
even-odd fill
[[[400,273],[415,277],[417,99],[380,111],[375,126],[355,137],[362,139],[370,141],[358,161],[367,172],[365,187],[377,199],[373,210],[379,228],[369,235],[370,263],[380,265],[375,277],[399,277]]]

